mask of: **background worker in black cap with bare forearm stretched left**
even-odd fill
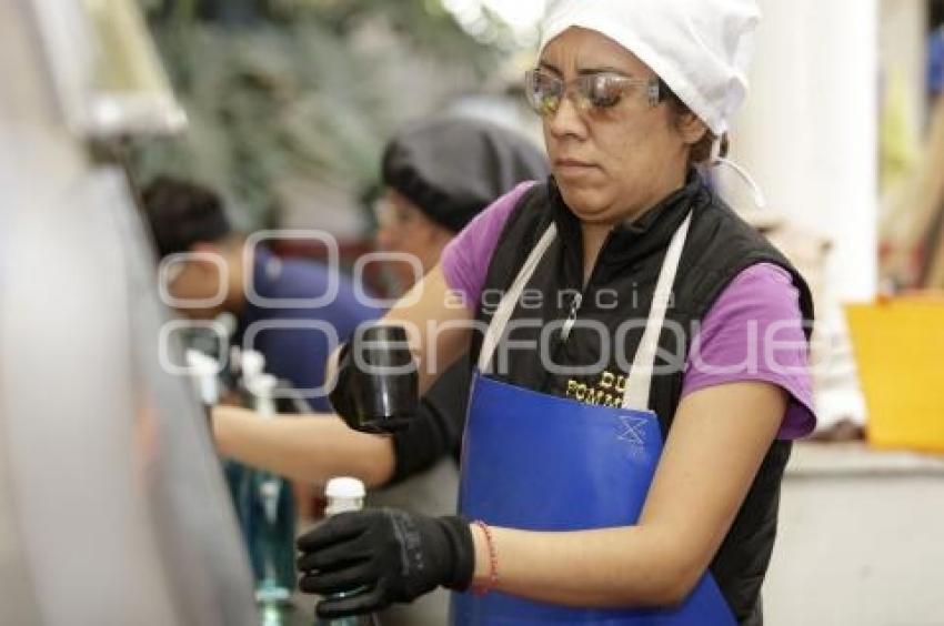
[[[398,253],[389,270],[404,290],[411,287],[483,208],[548,173],[546,159],[529,140],[488,122],[444,118],[406,128],[385,149],[376,204],[378,246]],[[349,475],[371,487],[388,485],[371,492],[372,507],[442,515],[455,508],[470,374],[469,362],[460,360],[423,397],[410,428],[393,437],[356,433],[333,415],[270,421],[219,406],[217,445],[228,457],[297,481],[320,484]],[[445,593],[431,594],[390,607],[383,623],[442,626],[448,599]]]

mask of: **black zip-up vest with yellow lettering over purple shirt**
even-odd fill
[[[809,340],[813,301],[803,277],[697,174],[692,174],[684,188],[636,222],[614,229],[585,286],[582,286],[580,222],[564,204],[552,178],[530,190],[514,209],[489,267],[478,315],[484,324],[491,322],[501,294],[511,286],[531,250],[548,226],[556,223],[558,238],[538,265],[512,314],[502,339],[505,347],[500,347],[494,356],[493,375],[521,387],[617,406],[649,317],[652,293],[669,242],[690,211],[689,238],[659,344],[656,366],[667,367],[665,373],[653,376],[651,390],[650,408],[660,416],[663,435],[671,427],[681,400],[683,365],[692,341],[693,323],[704,319],[721,292],[741,271],[757,263],[772,263],[792,274],[801,295],[801,311],[807,321]],[[564,341],[561,322],[573,316],[575,300],[580,304],[576,324]],[[549,323],[556,330],[544,330],[542,340],[542,329]],[[614,332],[621,326],[622,333]],[[602,327],[609,332],[606,343],[610,345],[602,345]],[[508,343],[510,341],[521,343]],[[542,364],[541,350],[534,350],[542,341],[550,346],[554,364],[584,366],[585,371],[549,372]],[[481,342],[481,334],[473,337],[473,361],[478,359]],[[509,347],[515,345],[521,347]],[[711,564],[711,572],[741,624],[763,622],[760,590],[773,551],[780,483],[790,451],[790,442],[773,443]]]

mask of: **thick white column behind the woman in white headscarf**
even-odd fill
[[[877,290],[877,0],[761,0],[752,88],[732,156],[772,210],[830,236],[843,301]],[[725,195],[750,202],[722,174]]]

